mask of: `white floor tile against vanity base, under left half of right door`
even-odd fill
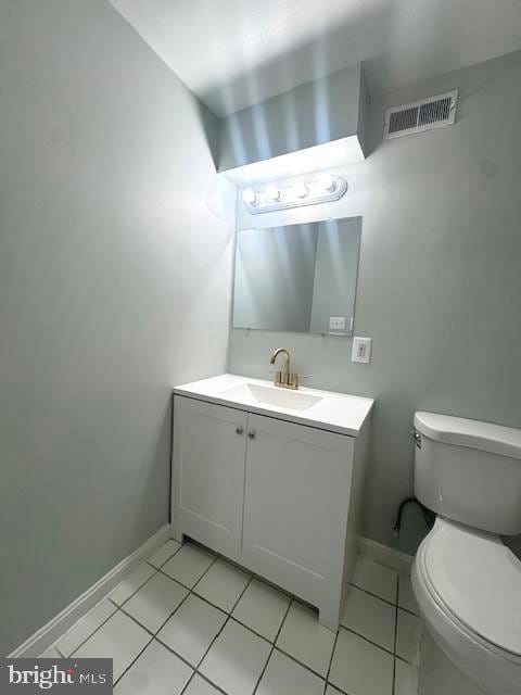
[[[254,579],[241,596],[233,612],[239,622],[272,642],[284,619],[290,596],[274,586]]]

